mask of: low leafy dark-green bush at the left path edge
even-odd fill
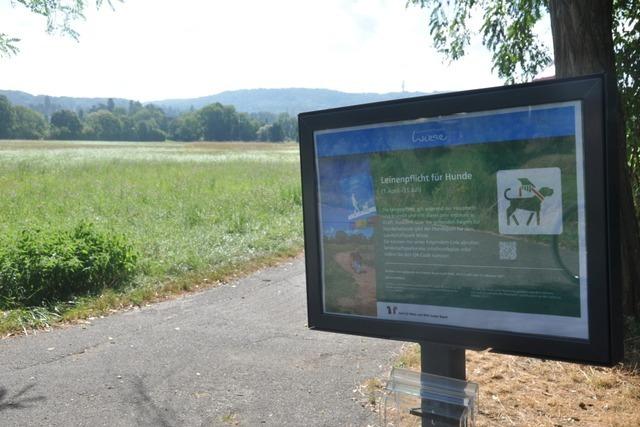
[[[0,245],[0,308],[38,306],[127,284],[137,253],[124,235],[82,222],[24,230]]]

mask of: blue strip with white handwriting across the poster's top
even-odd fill
[[[318,157],[575,135],[575,107],[318,132]]]

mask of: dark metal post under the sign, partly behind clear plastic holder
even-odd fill
[[[464,348],[428,342],[420,343],[420,364],[423,373],[466,379]],[[433,403],[431,403],[433,405]],[[432,406],[422,402],[422,427],[459,426],[457,421],[431,416]]]

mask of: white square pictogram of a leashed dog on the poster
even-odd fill
[[[500,234],[562,234],[560,168],[497,173]]]

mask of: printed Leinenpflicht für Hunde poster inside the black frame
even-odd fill
[[[324,311],[588,339],[581,117],[316,132]]]

